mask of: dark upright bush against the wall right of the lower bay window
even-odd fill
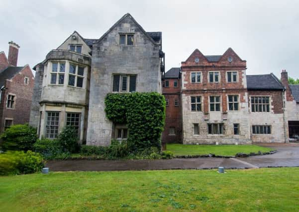
[[[73,126],[66,126],[59,134],[58,141],[69,152],[79,152],[78,134]]]

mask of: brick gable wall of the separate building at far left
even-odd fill
[[[24,84],[24,77],[29,78],[29,83]],[[32,91],[34,77],[29,66],[25,66],[22,71],[16,74],[11,80],[6,80],[3,101],[1,101],[2,117],[0,122],[0,132],[4,129],[5,118],[12,118],[13,124],[24,124],[29,122]],[[14,109],[6,108],[7,95],[15,94]]]

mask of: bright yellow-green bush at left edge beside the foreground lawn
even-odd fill
[[[0,153],[0,175],[30,174],[41,171],[44,161],[37,152],[28,150]]]

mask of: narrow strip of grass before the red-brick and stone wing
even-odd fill
[[[204,155],[212,153],[222,156],[235,156],[236,153],[240,152],[269,152],[274,149],[257,145],[192,145],[171,143],[167,144],[166,150],[172,151],[174,155]]]

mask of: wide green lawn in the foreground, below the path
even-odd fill
[[[13,211],[299,211],[299,168],[53,172],[0,177]]]

